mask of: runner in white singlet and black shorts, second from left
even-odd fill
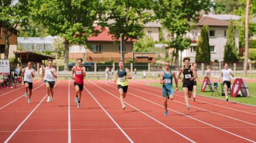
[[[47,90],[47,102],[50,100],[53,100],[53,87],[55,84],[55,78],[57,78],[56,70],[52,67],[52,59],[48,58],[48,66],[46,68],[43,68],[43,72],[41,75],[41,81],[44,81],[46,84],[46,90]],[[52,96],[50,96],[50,92]]]

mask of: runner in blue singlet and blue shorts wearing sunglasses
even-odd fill
[[[175,80],[176,90],[177,89],[177,78],[175,72],[170,70],[170,63],[168,61],[164,62],[164,71],[160,73],[160,83],[163,84],[163,98],[164,98],[164,108],[166,112],[164,115],[166,116],[168,113],[167,110],[167,99],[171,96],[171,100],[174,100],[174,89],[172,87],[172,77]]]

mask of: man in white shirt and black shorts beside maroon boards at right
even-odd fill
[[[231,75],[234,77],[233,72],[231,69],[228,69],[228,64],[224,64],[224,69],[221,70],[221,76],[220,79],[222,78],[222,84],[224,85],[225,89],[225,96],[226,96],[226,101],[229,101],[228,98],[228,92],[230,89],[230,80],[231,80]],[[220,79],[218,81],[220,81]]]

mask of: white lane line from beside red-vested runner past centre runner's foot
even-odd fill
[[[89,81],[89,82],[90,82],[90,83],[92,83],[91,81]],[[100,86],[98,86],[98,85],[96,85],[96,84],[94,84],[94,83],[92,83],[92,84],[93,84],[93,85],[95,85],[95,86],[97,86],[98,88],[102,89]],[[105,89],[102,89],[102,90],[106,91]],[[110,95],[114,96],[115,98],[119,99],[117,96],[115,96],[114,94],[110,93],[109,91],[106,91],[106,92],[108,92],[108,94],[110,94]],[[139,109],[135,108],[135,107],[134,107],[134,106],[132,106],[131,104],[129,104],[129,103],[127,103],[127,102],[125,102],[125,103],[126,103],[127,105],[129,105],[129,106],[133,107],[135,110],[137,110],[137,111],[139,111],[139,112],[143,113],[143,114],[144,114],[144,115],[146,115],[147,117],[150,117],[150,119],[152,119],[152,120],[156,121],[157,123],[159,123],[159,124],[163,125],[164,127],[166,127],[166,128],[168,128],[168,129],[170,129],[171,131],[173,131],[173,132],[175,132],[175,133],[179,134],[181,137],[183,137],[183,138],[187,139],[188,141],[190,141],[190,142],[195,142],[195,141],[191,140],[190,138],[188,138],[188,137],[184,136],[183,134],[181,134],[181,133],[179,133],[179,132],[175,131],[174,129],[172,129],[172,128],[170,128],[170,127],[168,127],[166,124],[163,124],[162,122],[160,122],[160,121],[156,120],[154,117],[152,117],[152,116],[148,115],[147,113],[144,113],[143,111],[141,111],[141,110],[139,110]]]

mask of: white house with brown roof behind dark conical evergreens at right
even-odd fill
[[[186,37],[192,39],[191,48],[181,53],[183,57],[190,57],[191,62],[195,62],[196,59],[196,45],[198,37],[200,36],[201,28],[204,25],[209,26],[209,45],[210,45],[210,60],[211,61],[224,61],[224,47],[227,40],[227,31],[229,22],[227,20],[221,20],[216,18],[210,18],[204,16],[196,24],[196,28],[187,33]],[[239,47],[238,31],[236,30],[236,46]]]

